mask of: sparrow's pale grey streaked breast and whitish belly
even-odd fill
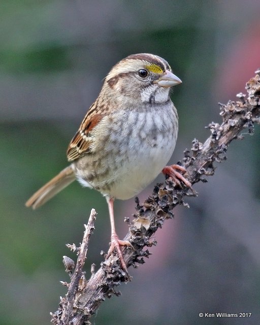
[[[77,178],[104,195],[132,198],[168,163],[177,133],[172,103],[157,110],[114,112],[93,129],[90,153],[74,163]]]

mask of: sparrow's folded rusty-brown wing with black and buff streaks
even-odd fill
[[[95,112],[96,109],[94,103],[82,121],[78,132],[75,134],[74,138],[69,144],[69,148],[67,150],[67,157],[69,161],[78,159],[88,152],[91,144],[90,132],[104,116],[103,114],[97,114]]]

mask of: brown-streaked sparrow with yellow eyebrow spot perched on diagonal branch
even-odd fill
[[[71,165],[25,205],[39,208],[76,179],[100,191],[107,200],[111,223],[107,258],[115,250],[126,270],[120,246],[133,246],[116,233],[114,200],[133,198],[161,171],[177,184],[182,181],[190,186],[183,167],[166,166],[178,135],[178,114],[170,89],[181,82],[169,63],[154,54],[132,54],[116,63],[69,144]]]

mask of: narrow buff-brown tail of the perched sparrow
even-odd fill
[[[26,207],[37,209],[45,202],[54,197],[64,187],[68,186],[76,179],[71,166],[63,169],[58,175],[51,179],[47,184],[38,189],[36,193],[25,203]]]

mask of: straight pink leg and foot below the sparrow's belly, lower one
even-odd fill
[[[120,262],[121,262],[121,265],[122,265],[122,269],[127,272],[126,264],[124,262],[124,258],[123,258],[123,254],[120,249],[120,245],[121,246],[129,246],[133,249],[134,249],[134,247],[128,241],[120,240],[119,237],[117,236],[116,229],[115,229],[115,220],[114,220],[114,199],[110,198],[110,197],[106,197],[106,199],[107,199],[107,203],[108,203],[109,217],[110,217],[110,223],[111,223],[111,244],[110,244],[110,248],[109,248],[106,258],[108,258],[112,254],[113,250],[116,249],[119,259],[120,259]]]

